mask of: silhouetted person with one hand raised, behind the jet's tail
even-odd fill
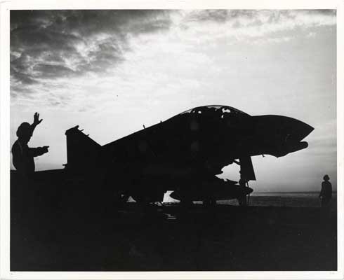
[[[41,123],[39,113],[34,113],[34,123],[22,123],[17,130],[18,139],[12,146],[13,165],[22,176],[29,177],[34,174],[34,157],[48,153],[49,146],[29,148],[27,143],[32,137],[34,129]]]

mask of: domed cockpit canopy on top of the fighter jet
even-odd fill
[[[200,106],[200,107],[196,107],[196,108],[184,111],[183,113],[180,113],[179,115],[183,115],[183,114],[204,114],[206,116],[219,116],[220,118],[224,118],[224,116],[228,116],[227,114],[250,116],[249,114],[244,113],[243,111],[240,111],[230,106],[223,106],[223,105]]]

